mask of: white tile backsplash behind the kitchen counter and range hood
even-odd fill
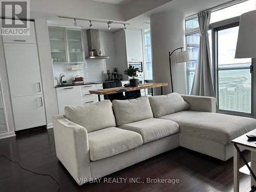
[[[83,38],[86,38],[83,36]],[[104,55],[110,55],[110,59],[95,59],[86,60],[81,71],[71,71],[70,65],[53,65],[54,78],[59,79],[60,74],[64,74],[67,83],[72,83],[76,75],[84,78],[85,82],[97,82],[107,79],[106,71],[113,72],[116,66],[115,61],[115,47],[114,47],[114,34],[111,32],[99,32],[100,47]],[[84,39],[86,41],[87,39]],[[87,45],[84,45],[87,46]],[[85,49],[88,50],[88,49]],[[88,55],[86,53],[86,55]],[[59,83],[59,82],[58,82]]]

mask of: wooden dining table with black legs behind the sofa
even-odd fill
[[[117,88],[108,88],[108,89],[99,89],[89,91],[91,94],[98,95],[98,100],[100,101],[100,95],[109,95],[114,93],[126,92],[126,91],[136,91],[141,89],[151,89],[151,94],[153,94],[153,88],[161,88],[161,95],[163,94],[163,87],[168,86],[168,83],[145,83],[139,84],[138,87],[117,87]]]

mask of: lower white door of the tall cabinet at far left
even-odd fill
[[[45,106],[42,95],[12,98],[15,131],[46,124]]]

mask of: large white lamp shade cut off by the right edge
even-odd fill
[[[234,58],[256,58],[256,10],[240,16],[237,49]]]

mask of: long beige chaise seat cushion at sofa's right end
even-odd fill
[[[230,144],[231,140],[256,129],[256,120],[219,113],[181,111],[160,117],[177,122],[180,133]]]

